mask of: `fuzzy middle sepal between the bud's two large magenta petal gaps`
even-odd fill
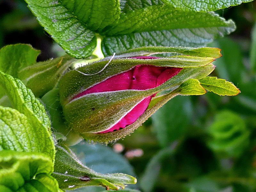
[[[115,124],[127,111],[131,110],[145,97],[164,90],[174,90],[188,79],[200,79],[209,75],[213,69],[212,64],[197,68],[184,68],[178,75],[164,84],[149,90],[124,90],[88,94],[63,105],[63,113],[70,127],[76,132],[101,132]]]

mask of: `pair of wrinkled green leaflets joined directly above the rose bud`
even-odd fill
[[[120,12],[117,0],[26,2],[52,38],[76,58],[92,54],[96,37],[103,38],[102,50],[111,55],[150,45],[204,46],[235,29],[232,20],[213,12],[180,11],[165,4]]]

